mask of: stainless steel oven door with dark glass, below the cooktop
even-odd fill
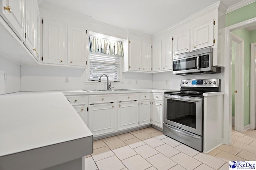
[[[164,95],[164,123],[202,136],[203,98]]]

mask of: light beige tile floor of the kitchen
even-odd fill
[[[228,170],[230,160],[256,160],[256,130],[232,127],[231,138],[204,154],[148,127],[94,141],[85,170]]]

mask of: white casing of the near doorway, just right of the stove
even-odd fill
[[[224,115],[223,115],[223,137],[224,144],[230,145],[231,143],[231,122],[232,122],[232,51],[230,49],[230,32],[236,29],[248,27],[256,24],[256,17],[250,20],[242,21],[225,28],[225,45],[224,45]]]

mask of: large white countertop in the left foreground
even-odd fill
[[[0,134],[0,156],[92,136],[62,92],[1,95]]]

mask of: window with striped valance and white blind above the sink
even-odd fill
[[[89,36],[89,80],[98,81],[102,74],[109,81],[120,81],[120,56],[124,56],[123,43]],[[106,76],[102,81],[106,81]]]

